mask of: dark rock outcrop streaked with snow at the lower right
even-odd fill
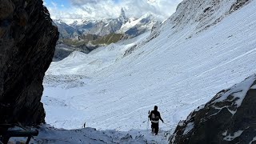
[[[219,92],[179,122],[170,143],[256,142],[256,74]]]

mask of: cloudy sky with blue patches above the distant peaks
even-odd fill
[[[182,0],[43,0],[51,18],[71,23],[82,19],[117,18],[123,8],[126,16],[139,18],[155,14],[165,20]]]

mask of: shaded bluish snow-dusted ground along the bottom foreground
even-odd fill
[[[14,128],[12,130],[22,130]],[[32,128],[32,130],[35,130]],[[54,144],[140,144],[140,143],[162,143],[167,144],[166,136],[160,134],[155,136],[142,130],[129,130],[126,132],[116,130],[96,130],[94,128],[83,128],[76,130],[56,129],[50,125],[42,125],[38,129],[38,136],[32,138],[30,143],[54,143]],[[25,143],[26,138],[10,138],[10,143]]]

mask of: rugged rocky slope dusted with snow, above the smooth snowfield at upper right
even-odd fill
[[[177,6],[176,12],[162,24],[162,29],[166,29],[164,26],[169,25],[172,29],[172,33],[169,34],[171,35],[186,29],[186,27],[193,27],[194,34],[198,34],[218,24],[222,19],[240,10],[251,1],[253,0],[185,0]],[[190,34],[187,38],[191,38],[194,34]],[[156,36],[154,34],[152,37]]]

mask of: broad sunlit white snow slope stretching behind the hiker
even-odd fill
[[[155,138],[166,142],[191,111],[255,74],[255,10],[251,1],[206,30],[192,20],[175,29],[170,18],[150,41],[146,33],[52,62],[42,96],[46,123],[71,130],[86,122],[150,139],[147,114],[157,105],[165,123]]]

